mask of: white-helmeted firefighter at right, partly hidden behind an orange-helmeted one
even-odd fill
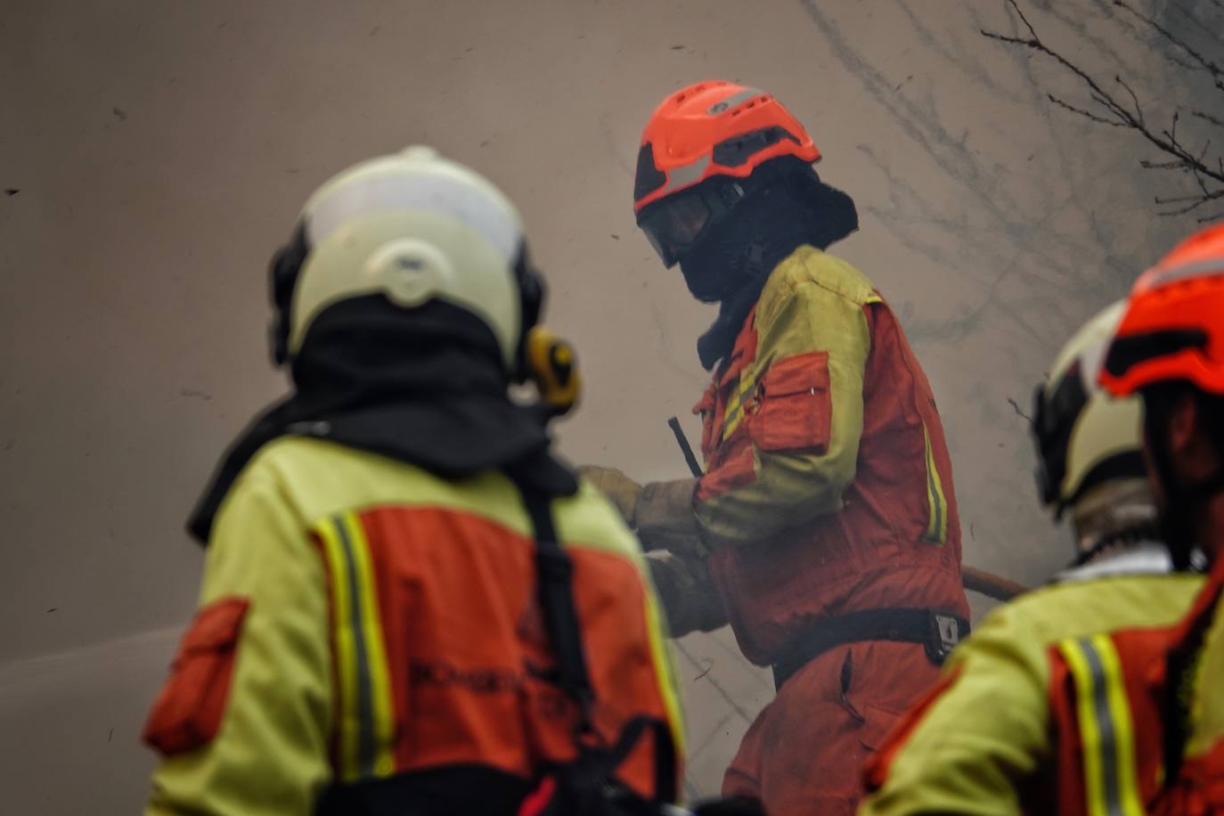
[[[1073,565],[952,653],[869,763],[863,814],[1131,815],[1158,789],[1159,707],[1119,702],[1142,680],[1119,653],[1158,656],[1202,581],[1170,573],[1158,543],[1138,400],[1097,385],[1125,306],[1081,329],[1037,390],[1038,488],[1071,516]]]

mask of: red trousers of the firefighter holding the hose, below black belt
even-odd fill
[[[864,762],[938,679],[922,644],[870,641],[825,652],[758,714],[722,794],[760,799],[770,816],[852,816]]]

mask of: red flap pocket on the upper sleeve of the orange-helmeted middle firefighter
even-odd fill
[[[809,351],[774,363],[761,377],[748,421],[761,450],[825,453],[832,422],[829,352]]]

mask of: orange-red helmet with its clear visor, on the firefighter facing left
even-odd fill
[[[747,179],[770,159],[816,161],[820,150],[777,99],[745,86],[712,80],[678,91],[655,109],[641,133],[633,209],[663,263],[696,241],[714,217],[744,190],[694,191],[712,176]],[[655,206],[666,202],[666,207]]]

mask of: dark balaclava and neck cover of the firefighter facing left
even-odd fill
[[[820,181],[812,165],[785,157],[763,164],[754,176],[756,185],[743,201],[679,261],[693,296],[720,303],[717,319],[696,344],[706,369],[731,354],[769,274],[783,258],[803,245],[825,250],[858,229],[853,199]]]

